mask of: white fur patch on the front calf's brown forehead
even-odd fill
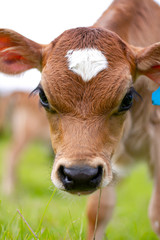
[[[66,57],[69,70],[81,76],[85,82],[91,80],[108,66],[106,57],[101,51],[94,48],[69,50]]]

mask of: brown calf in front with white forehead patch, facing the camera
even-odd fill
[[[153,168],[149,216],[160,235],[160,109],[151,103],[160,84],[159,21],[152,0],[115,0],[92,27],[67,30],[48,45],[0,30],[0,71],[42,72],[36,91],[56,154],[53,183],[74,194],[104,187],[96,239],[114,208],[114,172],[142,157]],[[143,101],[135,101],[140,95]],[[88,239],[97,194],[88,205]]]

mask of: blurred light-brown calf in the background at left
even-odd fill
[[[49,144],[49,127],[38,98],[27,92],[14,92],[0,98],[0,126],[10,125],[11,142],[4,158],[3,192],[11,194],[15,187],[16,167],[20,155],[34,140]],[[1,140],[0,140],[1,141]]]

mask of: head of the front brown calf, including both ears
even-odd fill
[[[160,44],[145,49],[95,28],[65,31],[40,45],[0,30],[0,71],[42,71],[37,91],[56,153],[51,179],[59,189],[88,194],[112,181],[111,159],[121,139],[134,83],[159,83]]]

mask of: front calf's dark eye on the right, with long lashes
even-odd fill
[[[118,112],[129,110],[132,107],[133,99],[134,98],[137,99],[136,98],[137,96],[142,99],[142,97],[136,92],[136,90],[133,87],[131,87],[130,90],[125,95],[125,97],[123,98],[122,103],[118,109]]]

